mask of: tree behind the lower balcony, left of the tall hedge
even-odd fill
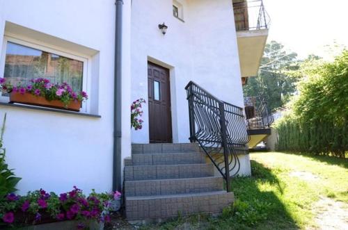
[[[288,74],[299,68],[297,54],[284,50],[283,44],[271,41],[266,44],[258,76],[248,79],[244,86],[246,97],[261,96],[269,110],[284,106],[296,92],[297,79]]]

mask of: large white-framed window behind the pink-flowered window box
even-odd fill
[[[74,92],[87,90],[88,58],[74,56],[56,49],[17,38],[4,37],[0,77],[13,85],[29,85],[31,79],[45,78],[52,83],[68,83]],[[0,93],[1,94],[1,93]],[[8,101],[2,94],[1,101]],[[81,111],[87,112],[86,101]]]

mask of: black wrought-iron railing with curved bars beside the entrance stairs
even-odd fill
[[[192,81],[185,90],[189,101],[189,139],[198,142],[230,191],[230,177],[237,175],[240,168],[237,152],[247,149],[243,108],[217,99]]]

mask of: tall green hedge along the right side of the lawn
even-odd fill
[[[278,120],[278,150],[345,157],[348,151],[348,51],[331,63],[311,60],[298,72],[299,95]]]

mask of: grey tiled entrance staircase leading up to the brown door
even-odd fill
[[[221,213],[233,199],[196,143],[132,145],[125,160],[127,220]]]

